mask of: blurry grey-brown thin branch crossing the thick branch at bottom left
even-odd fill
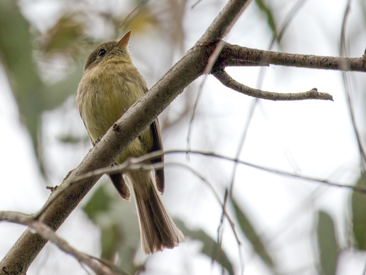
[[[57,247],[59,247],[59,249],[63,250],[68,254],[71,254],[76,258],[76,260],[78,260],[82,264],[87,265],[96,274],[101,275],[126,274],[123,271],[117,271],[115,267],[102,263],[97,258],[85,254],[75,249],[74,247],[70,246],[64,239],[57,236],[50,227],[43,224],[41,221],[35,220],[30,215],[16,212],[0,211],[0,221],[10,221],[11,223],[18,223],[31,227],[33,233],[37,233],[42,238],[54,243]]]

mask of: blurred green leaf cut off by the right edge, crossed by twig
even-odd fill
[[[366,186],[366,177],[362,175],[356,183],[358,187]],[[355,246],[359,250],[366,250],[366,194],[353,191],[351,196],[352,230]]]

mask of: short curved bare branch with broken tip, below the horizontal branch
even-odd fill
[[[250,88],[234,80],[225,70],[215,70],[212,72],[224,86],[233,89],[234,91],[240,92],[244,95],[253,96],[255,98],[262,98],[268,100],[304,100],[304,99],[323,99],[332,100],[333,96],[318,92],[317,88],[313,88],[307,92],[300,93],[274,93],[266,92],[259,89]]]

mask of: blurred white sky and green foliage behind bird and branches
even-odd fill
[[[83,63],[97,45],[132,30],[132,59],[151,87],[226,3],[2,0],[0,210],[37,212],[50,193],[45,187],[60,184],[91,148],[75,96]],[[366,3],[253,1],[225,40],[298,54],[360,57],[366,46]],[[166,150],[209,151],[362,186],[365,73],[281,66],[227,72],[271,92],[316,87],[332,94],[334,102],[255,100],[212,76],[201,77],[159,117]],[[57,234],[128,274],[365,274],[365,195],[212,156],[165,159],[162,198],[186,236],[184,244],[143,255],[134,202],[125,203],[105,176]],[[225,194],[228,216],[223,216]],[[24,230],[0,224],[0,258]],[[87,272],[48,243],[27,274]]]

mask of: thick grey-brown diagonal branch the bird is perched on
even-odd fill
[[[209,30],[224,33],[224,29],[234,20],[249,1],[230,0]],[[222,19],[225,20],[222,20]],[[220,22],[227,23],[220,25]],[[220,30],[221,28],[221,30]],[[204,38],[210,38],[205,40]],[[212,38],[212,40],[211,40]],[[202,50],[202,44],[214,43],[212,35],[203,35],[163,77],[143,96],[141,100],[129,108],[115,125],[104,135],[100,142],[86,155],[81,164],[74,169],[63,184],[52,192],[57,196],[40,219],[56,230],[74,210],[99,177],[85,179],[67,188],[75,177],[89,171],[110,166],[127,148],[139,133],[160,114],[185,87],[200,76],[208,62],[208,56]],[[219,37],[221,38],[221,36]],[[64,190],[67,188],[67,190]],[[61,195],[60,191],[62,191]],[[27,229],[11,250],[0,262],[0,274],[25,274],[29,265],[40,252],[46,241]]]

